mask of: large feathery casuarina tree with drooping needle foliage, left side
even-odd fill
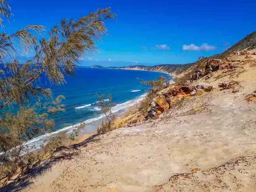
[[[0,1],[0,14],[12,16],[6,0]],[[53,100],[51,90],[40,87],[44,76],[52,84],[65,83],[65,75],[74,75],[76,63],[96,51],[95,40],[106,33],[104,20],[114,18],[110,8],[99,9],[78,20],[63,19],[50,32],[44,26],[28,25],[14,34],[0,34],[0,175],[10,177],[28,158],[26,142],[50,132],[54,126],[48,115],[64,112],[63,96]],[[3,24],[3,19],[0,19]],[[20,46],[17,46],[20,45]],[[24,50],[34,53],[30,60],[17,59]],[[52,102],[42,104],[42,98]],[[31,102],[37,101],[32,107]],[[14,114],[10,107],[18,108]],[[44,112],[42,112],[44,111]],[[60,146],[60,135],[44,146],[50,152]],[[28,160],[27,160],[28,162]]]

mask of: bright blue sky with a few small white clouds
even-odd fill
[[[6,32],[28,24],[47,30],[111,7],[116,19],[82,66],[185,64],[218,54],[256,30],[256,0],[9,0],[14,16]]]

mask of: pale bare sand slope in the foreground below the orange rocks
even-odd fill
[[[239,92],[216,88],[172,114],[96,136],[21,191],[255,191],[256,104],[244,98],[256,90],[256,67],[244,69],[232,78]]]

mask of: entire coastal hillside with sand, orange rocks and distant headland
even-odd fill
[[[194,74],[156,92],[146,112],[134,106],[115,130],[60,147],[50,159],[2,179],[0,191],[254,192],[255,33],[222,54],[192,68],[122,67]]]

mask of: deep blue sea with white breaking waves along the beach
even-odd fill
[[[86,122],[83,133],[96,131],[98,124],[94,122],[99,122],[103,117],[97,106],[96,94],[112,94],[112,102],[116,104],[112,112],[123,112],[125,108],[142,100],[148,92],[149,87],[140,84],[141,79],[156,80],[161,75],[168,76],[159,72],[78,67],[76,75],[66,77],[64,85],[51,86],[42,82],[42,86],[52,89],[53,96],[64,95],[66,98],[63,101],[66,112],[50,117],[55,122],[51,134],[72,132],[74,125],[80,122]],[[39,136],[28,144],[39,148],[48,136]]]

